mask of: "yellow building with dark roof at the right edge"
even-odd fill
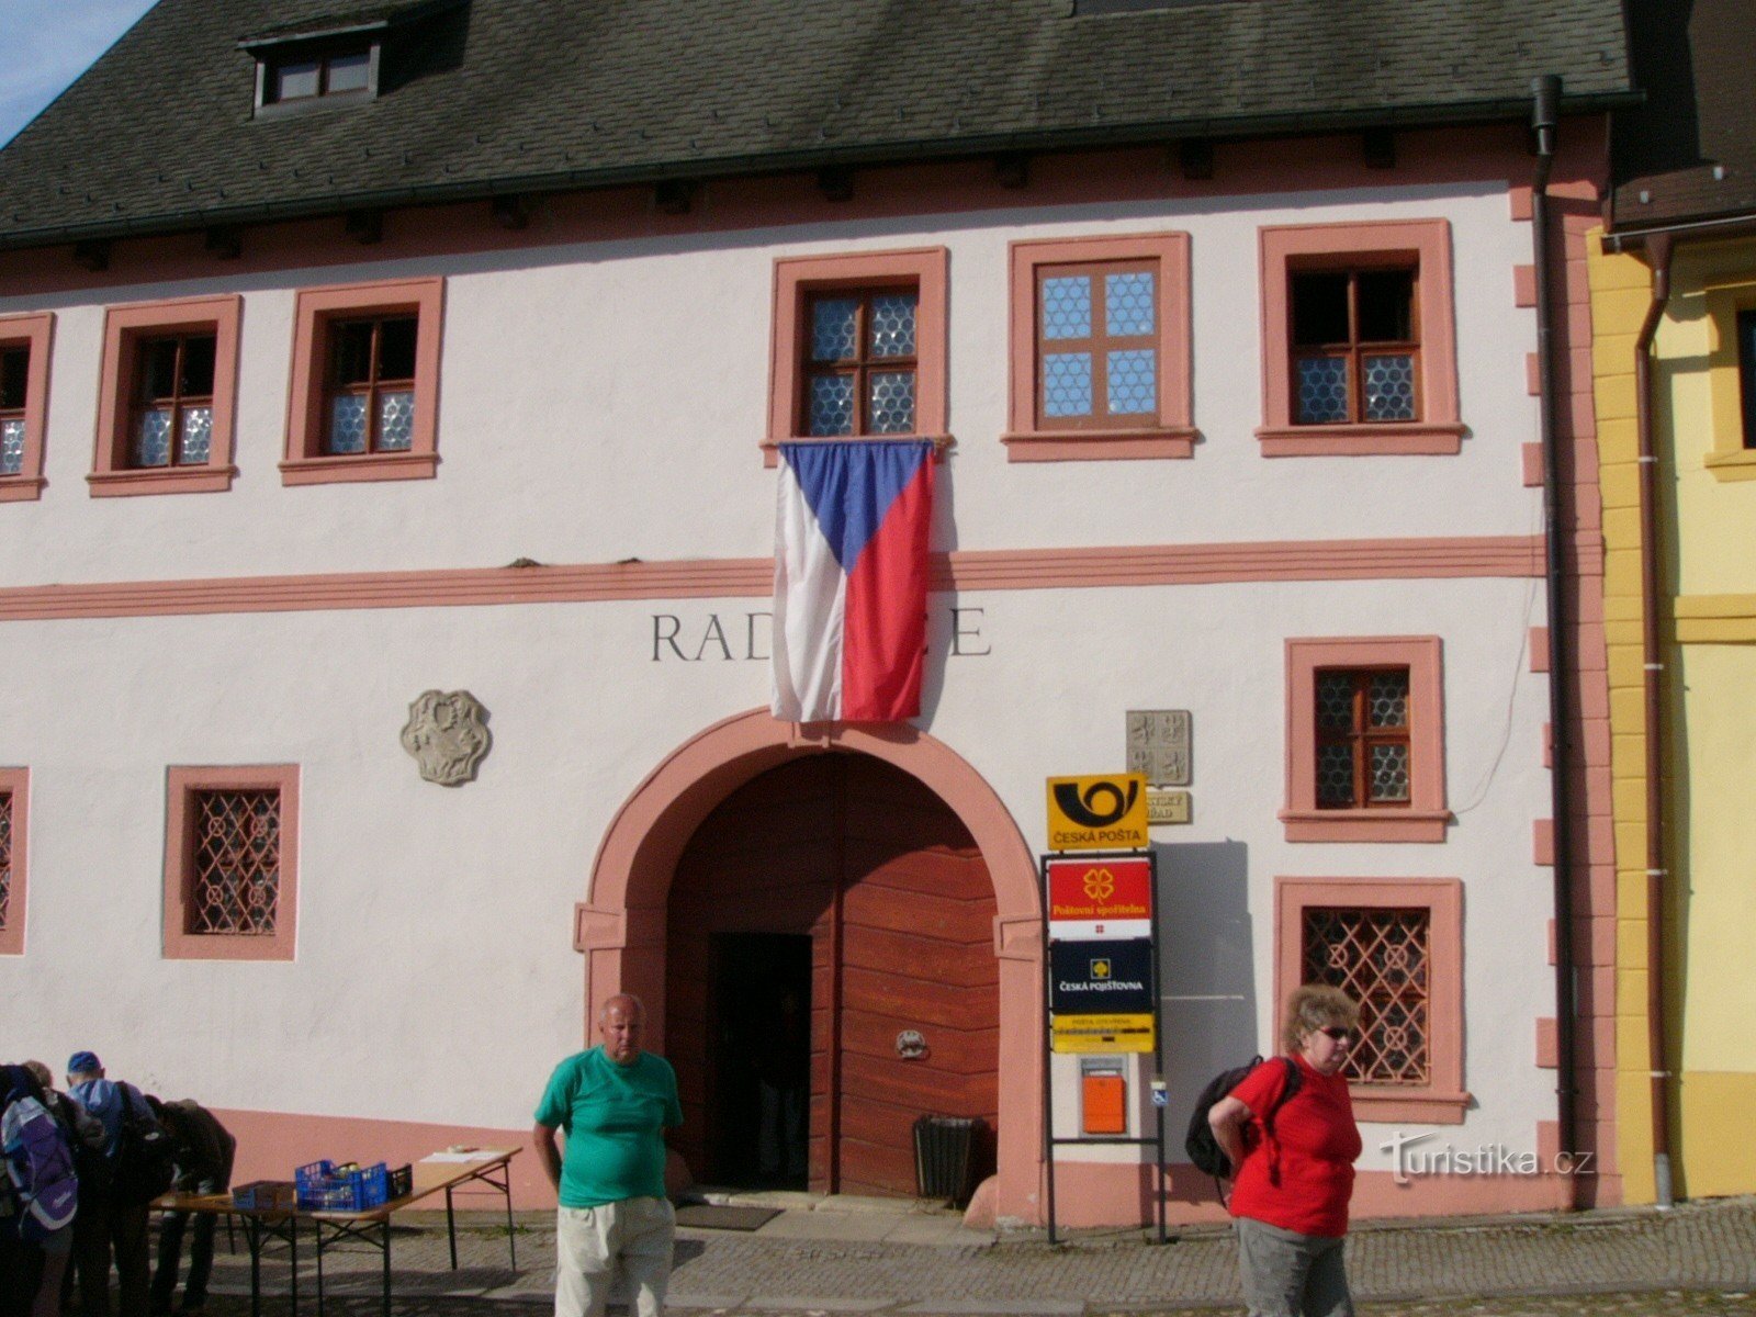
[[[1665,9],[1589,255],[1630,1203],[1756,1192],[1756,12]]]

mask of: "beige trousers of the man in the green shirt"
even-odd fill
[[[676,1213],[662,1198],[625,1198],[555,1213],[555,1317],[604,1317],[616,1268],[629,1280],[629,1312],[664,1317]]]

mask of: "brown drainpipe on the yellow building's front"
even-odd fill
[[[1635,339],[1635,416],[1640,435],[1640,618],[1645,695],[1645,901],[1647,901],[1647,1052],[1651,1055],[1652,1192],[1659,1208],[1675,1203],[1670,1182],[1670,1064],[1665,1031],[1665,651],[1658,616],[1658,455],[1652,446],[1652,339],[1670,302],[1672,239],[1647,241],[1652,302]]]

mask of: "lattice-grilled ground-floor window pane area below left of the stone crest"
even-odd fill
[[[197,790],[184,932],[265,936],[281,901],[281,792]]]

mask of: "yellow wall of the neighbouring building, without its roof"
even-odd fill
[[[1645,715],[1633,344],[1651,272],[1591,251],[1617,853],[1617,1152],[1651,1201]],[[1738,307],[1756,242],[1679,246],[1654,351],[1666,743],[1666,1031],[1679,1196],[1756,1192],[1756,453],[1742,448]]]

